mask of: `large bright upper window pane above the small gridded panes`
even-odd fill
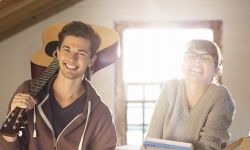
[[[127,29],[124,32],[124,81],[162,82],[180,76],[185,44],[213,40],[209,29]]]

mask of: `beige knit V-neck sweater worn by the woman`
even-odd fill
[[[196,150],[220,150],[230,138],[234,111],[225,86],[211,84],[189,109],[184,79],[171,80],[162,88],[147,137],[190,142]]]

